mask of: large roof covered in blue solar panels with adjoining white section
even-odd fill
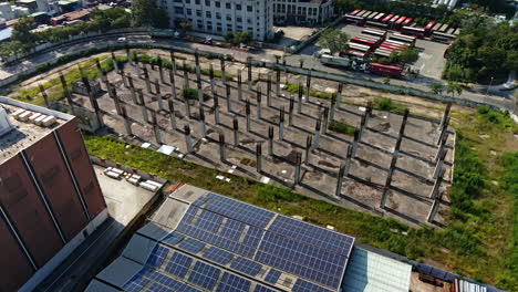
[[[185,185],[86,291],[408,291],[411,265],[352,254],[353,244],[350,236]],[[350,261],[356,267],[345,275]],[[383,275],[367,264],[390,275],[373,281]]]

